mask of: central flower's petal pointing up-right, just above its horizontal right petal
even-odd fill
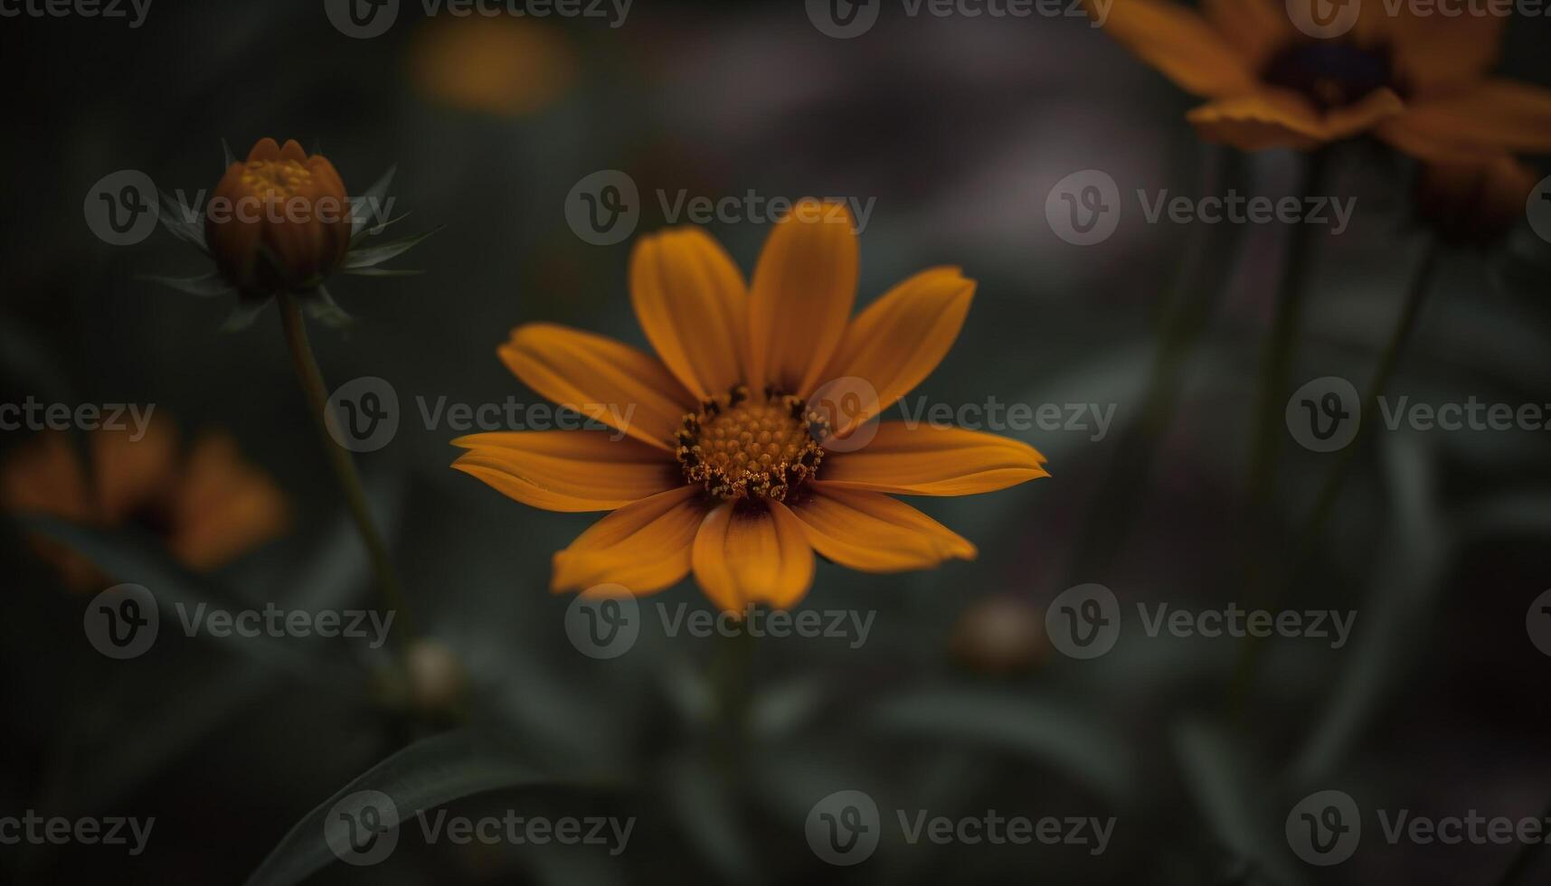
[[[931,376],[959,338],[972,296],[972,279],[941,267],[906,279],[856,315],[820,382],[862,379],[878,399],[839,416],[834,433],[848,434]]]

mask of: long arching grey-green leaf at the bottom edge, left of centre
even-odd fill
[[[382,791],[399,821],[456,799],[501,788],[600,787],[603,779],[552,776],[489,732],[458,731],[416,742],[377,763],[302,816],[248,877],[248,886],[292,886],[335,861],[324,825],[335,804],[357,791]]]

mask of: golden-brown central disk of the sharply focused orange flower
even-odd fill
[[[800,397],[777,391],[751,397],[737,386],[684,416],[678,461],[684,479],[718,498],[782,501],[817,472],[825,431],[825,421],[810,414]]]

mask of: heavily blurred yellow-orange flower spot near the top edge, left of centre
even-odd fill
[[[433,19],[409,53],[409,79],[423,96],[496,116],[544,110],[571,88],[575,70],[561,31],[504,16]]]

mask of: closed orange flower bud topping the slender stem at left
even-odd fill
[[[211,194],[205,242],[239,292],[312,289],[351,245],[344,182],[323,155],[262,138]]]

